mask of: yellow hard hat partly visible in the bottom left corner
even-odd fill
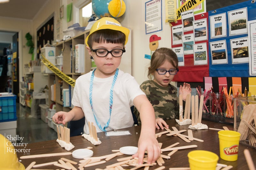
[[[12,143],[4,138],[2,134],[0,134],[0,143],[0,169],[24,170],[25,167],[19,162],[16,152],[14,152],[14,147],[11,145]]]

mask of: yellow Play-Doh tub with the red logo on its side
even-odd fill
[[[241,134],[236,131],[218,131],[220,141],[220,158],[236,161]]]

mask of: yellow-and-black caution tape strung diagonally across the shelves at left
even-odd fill
[[[49,60],[47,60],[42,53],[41,53],[41,56],[42,56],[42,62],[46,67],[52,70],[52,72],[58,75],[62,80],[66,81],[70,86],[75,87],[75,83],[76,83],[75,79],[69,77],[68,75],[60,71],[59,68],[57,68]]]

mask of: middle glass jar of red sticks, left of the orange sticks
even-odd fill
[[[212,116],[224,116],[226,101],[224,93],[212,93],[210,97],[210,114]]]

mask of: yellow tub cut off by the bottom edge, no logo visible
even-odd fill
[[[219,156],[210,151],[196,150],[188,153],[190,170],[215,170]]]

